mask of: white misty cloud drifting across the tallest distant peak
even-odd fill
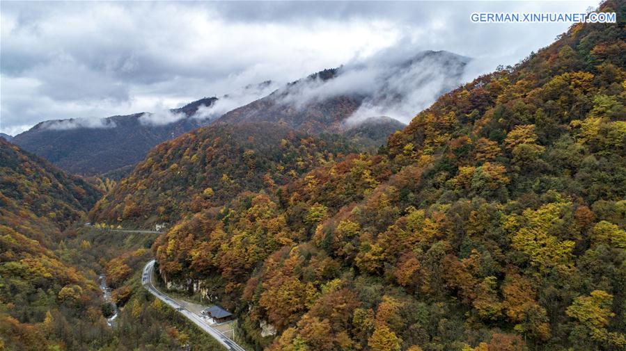
[[[302,79],[279,90],[278,102],[306,108],[316,101],[348,95],[363,99],[348,124],[379,116],[407,124],[437,97],[457,88],[467,75],[469,58],[447,51],[404,52],[398,56],[398,51],[402,49],[391,47],[349,63],[338,69],[333,79]]]

